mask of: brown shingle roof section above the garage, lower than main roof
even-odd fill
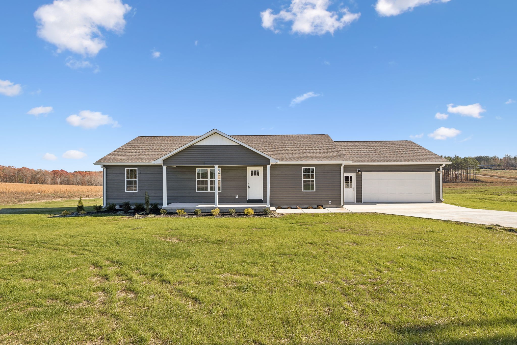
[[[336,141],[353,162],[445,162],[447,159],[409,141]]]

